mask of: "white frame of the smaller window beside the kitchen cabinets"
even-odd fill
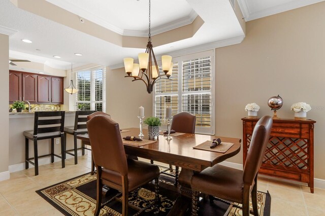
[[[95,100],[95,83],[94,83],[94,74],[96,70],[103,69],[103,92],[102,92],[102,97],[103,100],[101,101],[96,101]],[[76,87],[79,90],[78,87],[78,81],[77,81],[77,74],[78,72],[82,71],[90,71],[90,101],[82,101],[78,100],[78,93],[76,93],[75,97],[75,103],[90,103],[90,110],[95,110],[95,103],[102,102],[102,110],[103,112],[106,112],[106,67],[105,66],[95,66],[95,67],[90,67],[90,68],[85,68],[85,69],[80,69],[78,71],[75,71],[74,73],[74,82],[76,83]]]

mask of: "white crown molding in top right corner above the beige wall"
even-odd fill
[[[248,7],[246,0],[238,0],[238,3],[239,3],[239,7],[240,7],[241,11],[244,14],[245,21],[247,22],[250,20],[259,19],[262,17],[282,13],[285,11],[289,11],[289,10],[293,10],[293,9],[297,9],[297,8],[301,8],[301,7],[305,7],[305,6],[316,4],[319,2],[323,2],[323,1],[324,0],[295,0],[295,1],[292,1],[292,2],[289,2],[286,4],[268,8],[268,9],[265,9],[262,11],[257,11],[254,13],[249,12],[249,7]]]

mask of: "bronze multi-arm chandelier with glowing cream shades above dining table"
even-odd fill
[[[161,79],[169,79],[173,73],[172,56],[161,56],[161,64],[165,74],[159,73],[156,57],[154,56],[151,33],[150,33],[150,0],[149,0],[149,34],[148,44],[145,53],[139,53],[139,64],[134,63],[133,58],[124,58],[124,68],[127,76],[134,78],[133,81],[142,80],[147,87],[147,92],[150,94],[153,90],[153,85]]]

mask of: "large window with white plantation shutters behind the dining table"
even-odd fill
[[[180,56],[173,61],[171,80],[164,79],[155,84],[155,116],[166,123],[166,107],[170,106],[172,115],[179,112],[195,115],[196,132],[214,134],[213,50]]]

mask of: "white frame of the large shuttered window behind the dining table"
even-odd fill
[[[198,53],[192,53],[187,55],[182,55],[178,57],[173,57],[172,61],[178,63],[178,91],[177,92],[168,92],[168,93],[156,93],[156,88],[154,87],[154,90],[152,91],[152,113],[155,116],[156,115],[156,104],[155,104],[155,98],[156,96],[173,96],[178,95],[178,111],[177,113],[182,112],[182,97],[183,95],[188,94],[201,94],[206,93],[205,90],[202,91],[193,91],[193,92],[183,92],[183,61],[190,60],[190,59],[196,59],[196,58],[203,58],[210,56],[210,62],[211,62],[211,89],[210,89],[210,95],[211,95],[211,124],[210,127],[200,127],[196,126],[196,133],[201,134],[215,134],[215,51],[214,50],[208,50]],[[157,62],[158,63],[158,62]],[[161,61],[159,61],[158,64],[161,64]],[[181,81],[181,82],[179,82]],[[155,84],[157,85],[157,84]],[[161,129],[167,129],[167,124],[163,123],[161,125]]]

